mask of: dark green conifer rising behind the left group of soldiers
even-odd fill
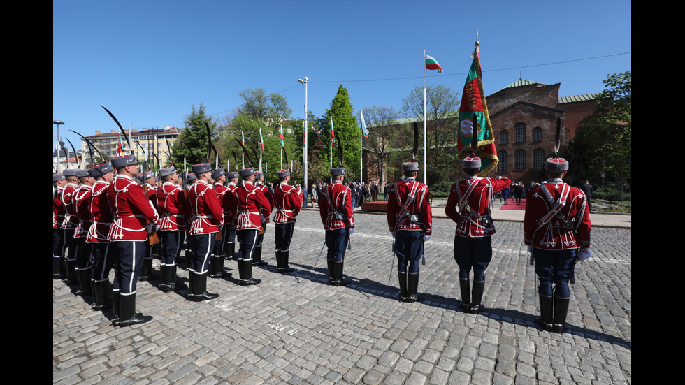
[[[185,124],[178,138],[173,144],[172,157],[175,164],[183,164],[185,157],[187,164],[199,164],[207,161],[208,136],[207,126],[210,128],[212,140],[216,136],[216,126],[212,119],[206,116],[205,106],[200,103],[199,108],[192,106],[189,115],[183,121]],[[212,152],[213,154],[213,152]],[[213,155],[212,155],[213,156]],[[214,159],[210,159],[213,163]]]

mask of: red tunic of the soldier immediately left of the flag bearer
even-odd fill
[[[431,204],[428,201],[428,186],[417,182],[414,178],[408,178],[393,184],[389,194],[387,218],[390,232],[423,231],[426,235],[431,235],[433,218]],[[410,194],[414,197],[413,199],[408,199]],[[405,205],[406,210],[403,209]],[[412,215],[417,215],[420,221],[411,221]]]

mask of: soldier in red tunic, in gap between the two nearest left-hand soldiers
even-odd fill
[[[159,254],[161,270],[161,291],[168,293],[176,289],[176,256],[180,249],[180,234],[187,229],[186,218],[192,217],[188,198],[178,185],[178,172],[174,166],[159,170],[163,184],[157,189],[159,208]]]

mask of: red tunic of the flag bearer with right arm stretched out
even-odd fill
[[[473,188],[470,188],[472,184],[475,185],[473,185]],[[462,237],[493,235],[495,233],[495,224],[484,226],[478,217],[490,215],[490,199],[492,194],[510,184],[512,184],[512,181],[506,177],[499,177],[497,179],[469,177],[466,180],[453,184],[452,189],[449,191],[449,198],[447,198],[445,214],[456,222],[456,235]],[[466,199],[463,200],[463,205],[460,204],[462,198],[459,198],[457,189],[461,191],[462,196],[466,196]],[[468,207],[473,212],[468,210],[466,203],[468,203]]]

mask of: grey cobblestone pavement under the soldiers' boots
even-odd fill
[[[147,324],[111,326],[111,311],[52,283],[54,384],[631,384],[631,230],[594,228],[593,258],[576,269],[570,334],[535,326],[535,276],[523,224],[496,223],[493,261],[478,315],[459,310],[452,256],[454,224],[436,218],[426,242],[419,292],[401,303],[384,215],[356,214],[349,286],[326,284],[318,212],[298,217],[291,247],[296,273],[275,273],[273,224],[264,238],[257,286],[208,279],[217,300],[138,284]],[[155,260],[155,263],[158,263]],[[226,267],[237,275],[236,263]],[[157,270],[158,268],[156,268]],[[395,270],[395,269],[393,269]],[[187,282],[187,272],[179,270]]]

